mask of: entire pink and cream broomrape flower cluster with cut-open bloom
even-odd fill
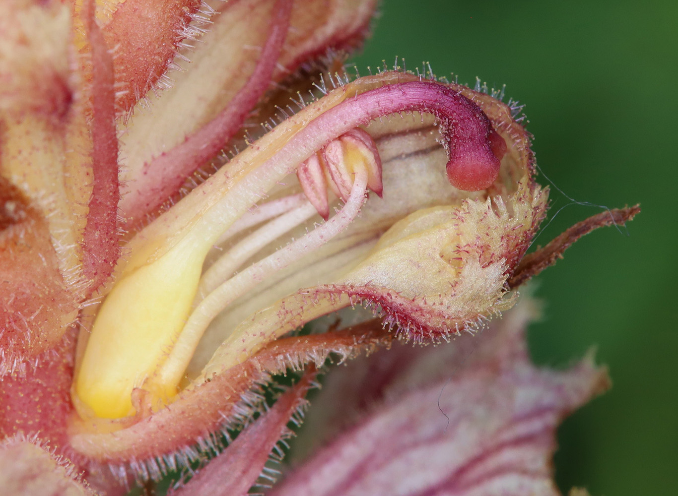
[[[521,107],[430,70],[346,73],[375,3],[2,3],[3,487],[153,492],[173,472],[177,493],[245,494],[327,359],[393,345],[319,401],[379,409],[277,494],[557,493],[553,430],[605,373],[532,367],[529,301],[488,323],[638,209],[525,255],[548,190]],[[439,439],[428,396],[464,346]]]

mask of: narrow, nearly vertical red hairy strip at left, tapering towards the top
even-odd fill
[[[118,141],[115,131],[113,57],[94,18],[94,3],[83,5],[87,39],[92,45],[92,198],[83,232],[83,273],[90,291],[111,275],[119,257],[117,239]]]

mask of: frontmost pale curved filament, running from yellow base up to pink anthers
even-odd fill
[[[179,384],[184,371],[191,361],[195,349],[212,320],[231,302],[252,290],[267,276],[300,260],[308,253],[325,245],[351,225],[357,217],[367,194],[367,171],[355,172],[351,195],[344,206],[327,222],[317,226],[302,238],[252,264],[242,272],[225,281],[205,297],[188,317],[184,329],[178,336],[167,360],[151,379],[159,384]],[[315,213],[315,208],[311,207]]]

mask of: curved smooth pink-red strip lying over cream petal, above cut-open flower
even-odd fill
[[[183,143],[144,165],[142,176],[121,203],[128,226],[157,209],[179,190],[189,175],[212,159],[233,138],[247,114],[268,89],[290,26],[292,0],[278,0],[273,12],[271,31],[254,73],[228,106]]]

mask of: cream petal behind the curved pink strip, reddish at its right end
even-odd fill
[[[194,43],[195,49],[185,50],[190,62],[175,60],[178,69],[167,74],[168,88],[140,102],[127,125],[121,137],[121,180],[134,180],[144,163],[171,150],[233,99],[256,66],[274,3],[213,3],[218,12],[207,32]],[[370,22],[374,4],[374,0],[296,1],[273,80],[281,81],[329,47],[357,43]]]

